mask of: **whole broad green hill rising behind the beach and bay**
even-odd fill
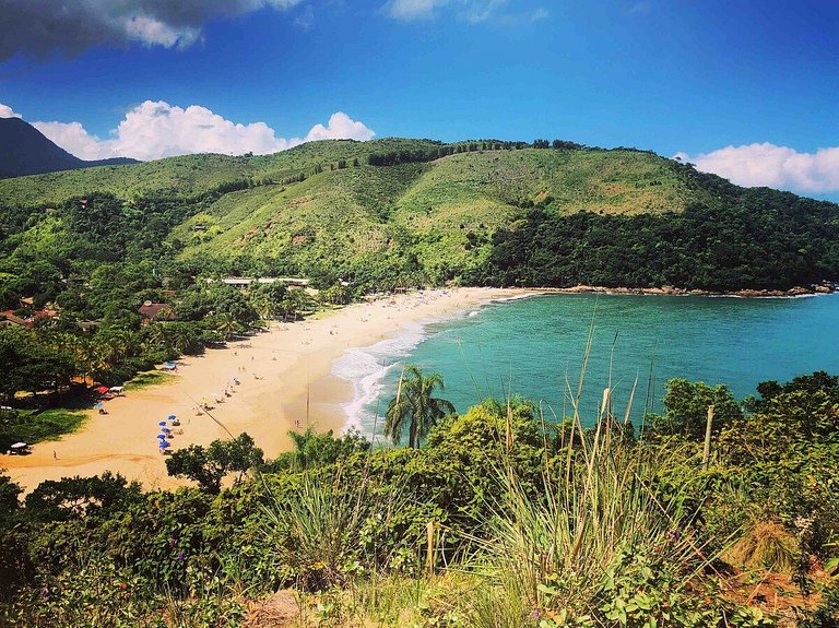
[[[69,277],[107,264],[134,268],[147,288],[217,273],[344,280],[358,292],[839,279],[839,205],[740,188],[651,152],[564,141],[346,140],[189,155],[2,180],[0,208],[7,305],[33,294],[78,300],[62,294]]]

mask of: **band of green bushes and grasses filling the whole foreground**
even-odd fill
[[[307,433],[261,463],[240,437],[214,447],[250,475],[217,495],[108,475],[22,506],[3,479],[4,621],[271,626],[248,601],[291,586],[302,627],[836,626],[839,378],[758,393],[673,381],[637,437],[607,408],[586,429],[516,400],[441,419],[422,449]],[[705,457],[709,399],[738,412]]]

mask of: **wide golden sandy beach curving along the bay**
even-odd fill
[[[227,348],[181,358],[170,381],[106,402],[107,415],[91,410],[79,431],[38,443],[31,455],[0,455],[0,467],[27,491],[45,479],[105,471],[138,479],[150,489],[188,484],[166,474],[165,457],[157,448],[157,424],[173,414],[182,430],[172,439],[173,449],[205,446],[229,438],[228,431],[247,431],[272,458],[289,449],[288,431],[305,430],[307,422],[318,431],[341,431],[346,419],[342,404],[352,400],[353,387],[331,371],[347,348],[370,346],[407,323],[522,294],[491,288],[423,291],[355,304],[312,320],[273,323],[269,331],[231,342]],[[216,396],[224,401],[212,402],[212,417],[197,414],[202,400]]]

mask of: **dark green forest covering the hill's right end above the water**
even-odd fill
[[[499,285],[790,288],[834,280],[836,205],[721,186],[720,206],[634,216],[528,212],[493,238]]]

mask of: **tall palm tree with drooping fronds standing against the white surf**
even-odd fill
[[[405,366],[399,379],[397,396],[388,404],[385,414],[385,436],[394,443],[402,439],[402,429],[405,423],[409,425],[409,447],[420,447],[420,441],[425,438],[436,423],[454,412],[450,401],[432,396],[436,388],[444,390],[442,376],[433,372],[428,377],[423,376],[418,366],[410,364]]]

